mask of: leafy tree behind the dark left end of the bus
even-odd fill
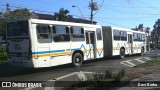
[[[3,13],[3,18],[0,19],[0,34],[5,38],[6,35],[6,25],[10,21],[15,21],[19,19],[27,19],[31,16],[31,13],[28,9],[15,9],[14,11],[6,10]]]

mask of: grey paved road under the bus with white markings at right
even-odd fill
[[[150,60],[150,54],[144,56],[128,56],[125,59],[117,59],[116,57],[108,60],[90,60],[85,62],[82,67],[73,68],[70,64],[41,69],[28,69],[20,67],[4,67],[0,66],[1,81],[46,81],[73,72],[96,72],[105,69],[127,69],[138,64],[142,64]],[[15,74],[16,73],[16,74]]]

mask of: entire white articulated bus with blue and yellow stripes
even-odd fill
[[[7,24],[11,65],[51,67],[145,52],[145,33],[100,25],[27,19]]]

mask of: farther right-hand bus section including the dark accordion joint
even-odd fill
[[[146,52],[145,32],[107,26],[102,30],[104,57],[119,55],[124,58],[127,54],[143,55]]]

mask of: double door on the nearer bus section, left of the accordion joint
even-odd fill
[[[96,58],[96,40],[94,31],[86,31],[86,57],[87,59]]]

